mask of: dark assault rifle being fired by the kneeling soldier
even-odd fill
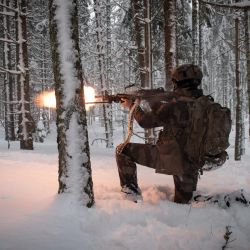
[[[131,93],[119,93],[115,95],[109,95],[104,93],[104,95],[95,96],[95,102],[88,102],[86,104],[97,104],[97,103],[119,103],[123,99],[129,99],[134,102],[137,99],[147,100],[149,103],[154,103],[157,101],[170,101],[174,98],[178,98],[178,95],[173,92],[167,92],[163,88],[157,89],[140,89]]]

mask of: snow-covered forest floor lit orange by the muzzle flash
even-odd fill
[[[90,142],[99,126],[90,126]],[[53,131],[34,151],[19,150],[0,134],[0,250],[250,250],[250,207],[209,202],[175,204],[171,176],[138,167],[142,203],[122,200],[114,149],[91,146],[96,204],[88,209],[57,195],[57,145]],[[116,129],[116,143],[122,140]],[[250,147],[242,161],[230,160],[204,173],[199,193],[220,195],[240,189],[250,196]]]

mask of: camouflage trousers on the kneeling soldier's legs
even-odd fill
[[[136,163],[155,169],[158,151],[154,145],[128,143],[121,153],[116,153],[116,162],[121,186],[138,187]],[[188,203],[196,190],[198,172],[173,175],[175,184],[174,201]]]

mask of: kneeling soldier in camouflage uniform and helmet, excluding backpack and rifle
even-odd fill
[[[155,169],[156,173],[173,175],[174,202],[188,203],[196,190],[198,170],[204,162],[191,161],[184,153],[182,145],[187,140],[186,126],[189,124],[187,100],[203,95],[198,86],[202,72],[198,66],[185,64],[172,73],[173,92],[182,96],[180,101],[160,102],[149,112],[137,107],[134,118],[143,128],[163,127],[156,145],[128,143],[117,148],[116,161],[120,177],[121,192],[125,198],[137,202],[142,199],[138,187],[136,163]],[[124,99],[122,105],[133,106],[132,101]],[[194,142],[195,143],[195,142]],[[121,152],[120,152],[121,151]]]

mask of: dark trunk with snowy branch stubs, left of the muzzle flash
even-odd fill
[[[33,149],[34,120],[30,113],[30,85],[26,30],[26,0],[16,0],[19,139],[21,149]]]

